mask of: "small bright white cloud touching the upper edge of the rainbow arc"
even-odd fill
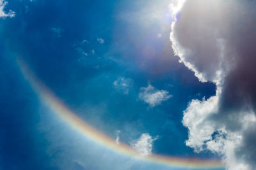
[[[152,147],[154,141],[157,140],[156,138],[152,138],[149,134],[141,134],[139,139],[132,141],[131,146],[135,150],[137,150],[141,156],[147,157],[148,155],[152,154]]]

